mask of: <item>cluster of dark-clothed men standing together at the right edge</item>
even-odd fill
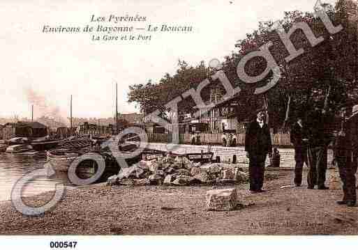
[[[327,150],[333,146],[334,159],[332,164],[338,166],[338,172],[343,182],[343,199],[339,205],[353,207],[357,203],[356,179],[357,153],[352,141],[352,120],[346,117],[346,109],[340,110],[341,127],[339,131],[331,131],[331,114],[325,110],[316,109],[308,116],[306,123],[303,117],[291,127],[290,139],[294,145],[294,184],[299,187],[302,182],[302,169],[308,166],[308,189],[329,189],[325,186],[327,171]]]

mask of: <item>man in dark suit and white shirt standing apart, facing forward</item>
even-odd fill
[[[272,155],[269,126],[264,123],[264,111],[258,111],[257,119],[251,123],[245,136],[245,151],[249,159],[248,174],[251,192],[264,192],[264,162]]]

